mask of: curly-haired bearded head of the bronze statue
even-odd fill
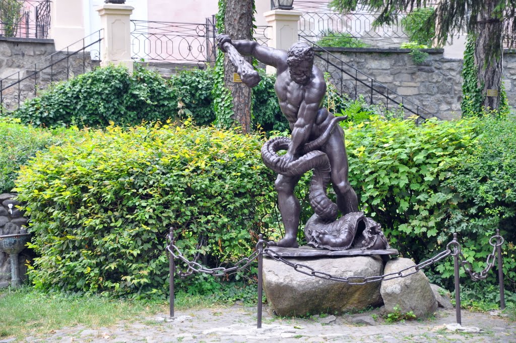
[[[288,49],[288,71],[295,83],[306,85],[312,77],[314,50],[305,43],[295,43]]]

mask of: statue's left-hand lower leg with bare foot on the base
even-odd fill
[[[297,229],[299,227],[299,213],[301,206],[299,200],[294,196],[294,188],[298,183],[300,177],[288,177],[278,175],[275,186],[278,191],[278,206],[280,207],[281,220],[285,227],[285,237],[278,242],[273,242],[271,245],[283,247],[295,247],[297,244]]]

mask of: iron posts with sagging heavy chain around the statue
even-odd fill
[[[445,250],[438,253],[437,255],[422,261],[414,266],[399,270],[397,272],[376,275],[376,276],[351,276],[351,277],[338,277],[331,275],[324,271],[317,271],[313,268],[302,264],[289,261],[289,258],[281,256],[273,249],[267,247],[267,242],[263,240],[263,235],[259,235],[258,242],[256,243],[255,251],[234,263],[233,267],[224,268],[206,268],[198,263],[199,255],[197,255],[192,261],[188,260],[177,246],[174,245],[174,231],[170,228],[168,235],[169,244],[166,247],[166,251],[169,254],[169,268],[170,268],[170,318],[174,318],[174,274],[178,274],[180,277],[185,277],[193,273],[205,273],[214,276],[224,276],[236,273],[247,268],[253,261],[258,262],[258,305],[257,305],[257,319],[256,327],[260,329],[262,327],[262,298],[263,298],[263,257],[267,256],[276,261],[282,262],[289,267],[292,267],[296,272],[318,277],[326,280],[332,280],[335,282],[343,282],[349,285],[365,285],[367,283],[381,282],[382,280],[391,280],[400,277],[407,277],[412,274],[419,272],[420,270],[431,266],[443,260],[446,257],[454,258],[454,276],[455,276],[455,303],[456,303],[456,320],[458,324],[461,324],[461,309],[460,309],[460,268],[462,267],[465,274],[470,276],[472,280],[479,281],[485,280],[489,271],[495,266],[496,259],[498,260],[498,285],[500,291],[500,308],[505,308],[505,295],[504,295],[504,274],[503,274],[503,261],[502,261],[502,245],[504,244],[504,238],[500,236],[500,232],[497,229],[495,235],[489,239],[489,244],[493,247],[493,251],[488,255],[486,260],[486,268],[481,272],[473,272],[471,263],[468,262],[464,255],[461,253],[461,245],[457,240],[457,233],[453,234],[453,240],[448,242],[445,246]],[[175,260],[180,261],[183,266],[186,267],[185,271],[181,271],[177,266]]]

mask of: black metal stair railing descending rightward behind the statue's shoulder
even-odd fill
[[[385,111],[403,110],[405,116],[415,115],[418,121],[429,118],[442,120],[438,115],[425,110],[425,108],[407,99],[406,96],[398,94],[381,82],[346,63],[337,55],[311,41],[310,38],[303,36],[299,36],[299,38],[313,45],[316,51],[315,64],[330,74],[332,84],[342,96],[351,99],[363,96],[371,105],[383,107]]]

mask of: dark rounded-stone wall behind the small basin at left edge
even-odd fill
[[[13,198],[15,194],[0,194],[0,236],[13,235],[15,233],[26,232],[27,219],[23,213],[16,208],[20,203]],[[11,206],[9,206],[11,205]],[[27,260],[31,260],[31,253],[28,249],[24,249],[19,255],[19,268],[22,280],[26,278],[25,266]],[[0,288],[9,285],[11,280],[11,261],[9,255],[0,251]]]

